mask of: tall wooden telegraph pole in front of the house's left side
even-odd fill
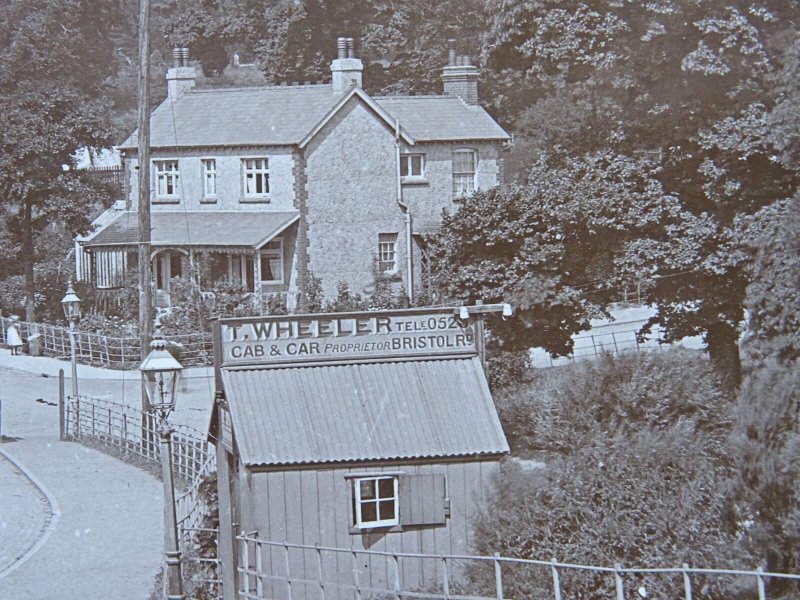
[[[150,0],[139,0],[139,344],[140,358],[150,352],[153,338],[153,286],[150,266]],[[150,413],[147,391],[142,384],[142,412]],[[142,422],[142,442],[153,449],[152,427]]]

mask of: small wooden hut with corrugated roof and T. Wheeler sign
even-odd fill
[[[478,326],[452,309],[217,323],[225,598],[425,589],[439,566],[392,553],[470,550],[508,452]]]

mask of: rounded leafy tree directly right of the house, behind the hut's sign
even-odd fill
[[[513,322],[488,320],[504,350],[554,355],[617,300],[606,282],[631,232],[665,237],[685,218],[641,161],[597,153],[541,158],[525,185],[479,191],[445,215],[431,239],[436,285],[446,296],[511,302]]]

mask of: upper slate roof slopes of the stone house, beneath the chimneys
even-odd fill
[[[345,92],[346,93],[346,92]],[[362,93],[364,93],[362,91]],[[299,144],[341,100],[330,84],[192,88],[165,100],[150,120],[150,146],[219,147]],[[451,96],[386,96],[373,100],[411,137],[424,141],[506,140],[480,107]],[[120,148],[136,148],[134,132]]]

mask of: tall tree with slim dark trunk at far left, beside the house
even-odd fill
[[[0,198],[18,226],[26,318],[33,320],[35,232],[85,232],[97,201],[74,170],[81,147],[110,142],[102,84],[114,69],[110,23],[121,3],[19,0],[0,8]],[[88,197],[87,197],[88,194]]]

